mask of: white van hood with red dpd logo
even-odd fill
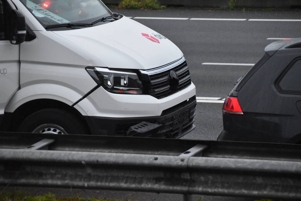
[[[169,39],[125,16],[99,26],[53,32],[85,51],[80,56],[89,66],[147,70],[183,56]]]

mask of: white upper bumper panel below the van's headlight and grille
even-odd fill
[[[168,97],[157,99],[151,95],[113,94],[100,87],[74,107],[88,116],[112,118],[160,116],[163,110],[195,95],[195,86]]]

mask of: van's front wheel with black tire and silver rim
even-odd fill
[[[30,133],[35,131],[37,133],[46,132],[54,134],[73,135],[89,134],[88,129],[81,119],[77,118],[75,115],[68,111],[56,108],[39,110],[29,115],[20,124],[17,131]]]

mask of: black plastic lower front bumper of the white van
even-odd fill
[[[110,118],[98,116],[85,116],[92,135],[127,136],[128,129],[140,122],[162,124],[162,128],[147,136],[134,135],[135,137],[154,138],[181,138],[195,128],[194,111],[196,97],[189,98],[171,108],[163,110],[160,116]],[[181,119],[181,116],[184,118]]]

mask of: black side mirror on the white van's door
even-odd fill
[[[11,44],[19,45],[25,41],[26,23],[25,17],[17,10],[12,10],[10,14],[10,36]]]

